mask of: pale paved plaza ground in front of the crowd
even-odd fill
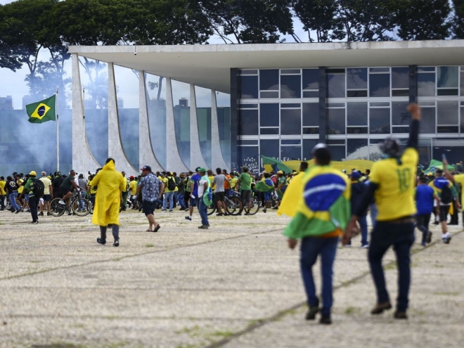
[[[275,211],[210,217],[121,214],[120,247],[87,217],[0,212],[0,347],[463,347],[464,233],[413,247],[408,321],[375,304],[366,250],[337,251],[333,325],[305,321],[297,250]],[[109,232],[109,231],[108,231]],[[416,232],[416,238],[419,233]],[[396,297],[393,253],[385,257]],[[315,269],[320,289],[319,269]]]

